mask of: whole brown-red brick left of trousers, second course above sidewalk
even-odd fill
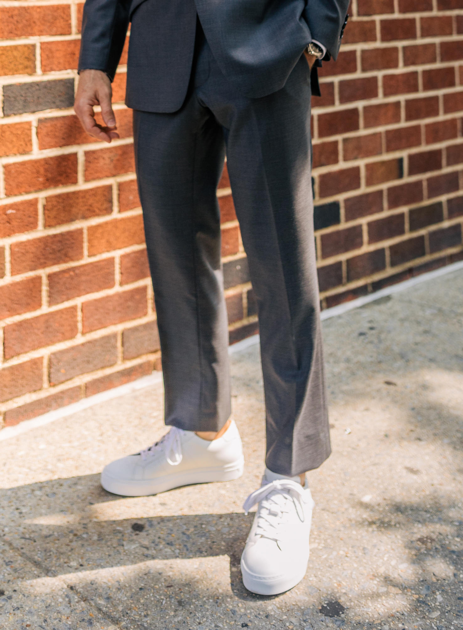
[[[108,335],[50,355],[50,385],[69,381],[81,374],[110,367],[117,362],[117,336]]]

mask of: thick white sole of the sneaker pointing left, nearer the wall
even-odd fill
[[[244,459],[241,458],[226,466],[211,468],[193,468],[190,470],[172,473],[156,479],[143,479],[141,481],[121,481],[111,477],[105,471],[101,475],[101,484],[105,490],[114,495],[122,496],[149,496],[160,492],[190,486],[196,483],[213,483],[214,481],[233,481],[242,476]]]

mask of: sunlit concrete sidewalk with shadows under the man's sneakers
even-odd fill
[[[324,322],[333,454],[310,473],[305,579],[247,592],[259,485],[258,347],[233,355],[238,481],[148,498],[103,491],[103,464],[159,438],[161,385],[0,442],[2,630],[463,627],[463,272]]]

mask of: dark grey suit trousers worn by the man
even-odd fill
[[[136,110],[134,144],[166,424],[218,431],[230,415],[216,200],[226,153],[259,314],[266,465],[288,475],[320,466],[331,449],[315,265],[307,60],[302,55],[283,88],[245,98],[223,76],[199,30],[184,105],[174,113]]]

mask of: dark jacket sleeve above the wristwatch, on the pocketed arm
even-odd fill
[[[304,18],[312,38],[322,43],[327,49],[327,55],[335,60],[346,25],[348,7],[349,0],[307,0],[305,6]]]

